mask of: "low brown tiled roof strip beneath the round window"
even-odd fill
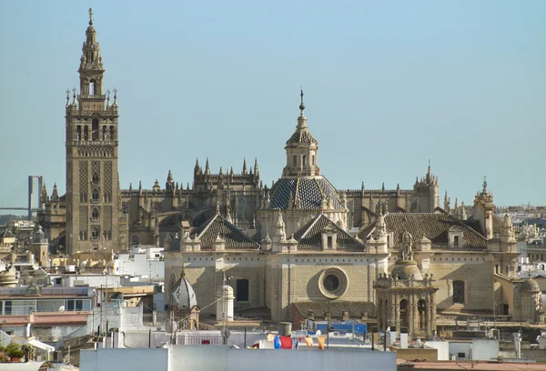
[[[342,318],[343,312],[349,312],[349,317],[351,318],[359,318],[363,313],[368,313],[368,316],[372,318],[378,316],[378,308],[371,302],[334,300],[329,302],[297,302],[293,306],[303,317],[307,317],[308,313],[312,310],[317,320],[324,318],[328,311],[334,319]]]

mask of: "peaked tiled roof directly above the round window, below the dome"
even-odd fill
[[[320,250],[322,246],[321,232],[328,226],[336,231],[336,245],[339,250],[364,251],[364,244],[322,214],[311,219],[308,224],[299,228],[294,234],[294,238],[298,240],[298,250]]]

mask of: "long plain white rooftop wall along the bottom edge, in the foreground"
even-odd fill
[[[231,349],[226,346],[170,346],[82,350],[81,371],[395,371],[396,353],[365,350]]]

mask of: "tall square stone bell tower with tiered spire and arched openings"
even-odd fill
[[[103,91],[105,69],[93,12],[78,69],[79,94],[66,92],[66,253],[119,250],[117,95]]]

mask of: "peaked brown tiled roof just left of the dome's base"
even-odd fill
[[[220,215],[212,216],[203,225],[198,226],[196,235],[201,240],[201,249],[212,249],[217,236],[226,241],[226,249],[258,250],[259,244],[247,236],[237,226],[229,223]]]

